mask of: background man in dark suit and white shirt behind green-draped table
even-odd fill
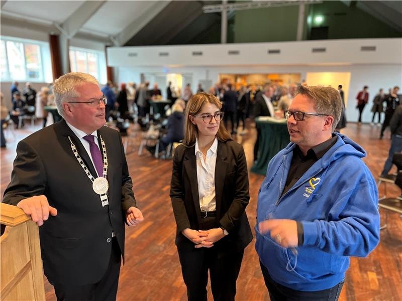
[[[274,116],[274,108],[271,102],[273,96],[273,88],[270,85],[264,87],[263,93],[258,93],[254,101],[254,117],[258,116]],[[258,160],[258,147],[260,140],[260,129],[257,127],[257,139],[254,144],[254,161]]]

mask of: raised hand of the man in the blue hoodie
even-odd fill
[[[284,248],[297,247],[297,223],[289,219],[269,219],[258,224],[261,233],[270,231],[270,235]]]

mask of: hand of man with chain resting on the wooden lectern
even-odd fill
[[[44,195],[21,200],[17,204],[17,207],[21,208],[25,214],[30,215],[38,226],[42,226],[43,222],[49,218],[49,213],[52,216],[57,215],[57,209],[49,206],[49,202]]]

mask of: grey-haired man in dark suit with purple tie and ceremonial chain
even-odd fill
[[[143,220],[122,142],[103,126],[106,98],[94,77],[68,73],[53,92],[64,119],[18,143],[3,202],[40,226],[44,271],[58,300],[113,300],[124,222]]]

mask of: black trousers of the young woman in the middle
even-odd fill
[[[206,218],[216,221],[215,217]],[[204,220],[203,220],[204,221]],[[208,230],[214,228],[200,227]],[[207,301],[208,270],[211,275],[211,289],[215,301],[234,301],[236,280],[239,276],[244,250],[218,256],[215,247],[178,250],[181,271],[187,287],[189,301]]]

